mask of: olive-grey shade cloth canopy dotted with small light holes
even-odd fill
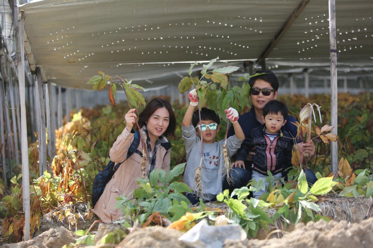
[[[85,83],[103,70],[148,88],[176,85],[189,63],[217,56],[244,73],[244,62],[258,59],[304,2],[42,0],[20,9],[28,62],[32,71],[43,68],[43,80],[91,89]],[[336,1],[338,64],[345,76],[372,75],[372,10],[371,0]],[[327,77],[329,56],[328,1],[311,0],[266,65],[283,73],[321,68]]]

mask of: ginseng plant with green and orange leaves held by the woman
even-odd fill
[[[137,84],[132,84],[132,80],[128,81],[127,79],[124,79],[123,76],[117,75],[116,77],[111,77],[109,75],[105,75],[103,71],[98,72],[99,75],[93,76],[87,84],[92,84],[93,85],[93,90],[97,90],[100,92],[103,90],[107,85],[110,85],[109,87],[109,100],[110,103],[113,104],[114,107],[116,107],[116,84],[119,84],[120,87],[123,88],[123,91],[126,95],[127,103],[129,108],[131,109],[132,107],[135,107],[136,113],[138,115],[138,108],[140,106],[145,107],[145,99],[142,96],[138,90],[145,91],[144,88]],[[140,132],[140,126],[135,120],[137,129]],[[146,171],[145,171],[145,162],[146,162],[146,153],[144,150],[144,137],[141,136],[141,145],[142,145],[142,160],[141,160],[141,172],[142,172],[142,178],[146,177]]]

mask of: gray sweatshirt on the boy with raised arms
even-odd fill
[[[189,188],[195,186],[195,171],[200,166],[201,161],[201,139],[196,135],[194,126],[182,126],[182,135],[185,142],[186,150],[186,166],[184,172],[184,183]],[[230,136],[227,139],[228,156],[231,158],[242,144],[241,139],[236,135]],[[203,143],[202,162],[202,185],[205,200],[211,200],[216,197],[223,189],[223,147],[224,139],[214,143]],[[196,194],[196,192],[194,192]],[[199,196],[201,197],[201,196]]]

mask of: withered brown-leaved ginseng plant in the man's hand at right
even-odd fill
[[[302,138],[305,138],[305,141],[307,142],[308,140],[313,140],[319,137],[322,139],[322,141],[326,145],[330,143],[329,141],[337,141],[338,136],[336,134],[332,134],[332,133],[326,134],[326,132],[333,130],[334,128],[333,126],[329,126],[326,124],[320,129],[318,126],[314,125],[315,131],[312,131],[312,115],[314,118],[314,122],[316,123],[316,115],[315,115],[314,107],[316,107],[316,109],[318,110],[319,116],[320,116],[320,124],[322,123],[321,113],[320,113],[321,106],[317,105],[316,103],[313,103],[313,104],[307,103],[307,105],[305,105],[300,110],[300,113],[299,113],[300,122],[299,123],[292,122],[295,126],[298,127],[298,134],[297,134],[296,139],[302,137]],[[316,133],[316,136],[314,136],[313,138],[311,138],[312,133]],[[304,153],[303,156],[309,157],[310,154]],[[292,164],[295,167],[298,167],[299,164],[301,165],[301,161],[303,161],[303,156],[300,155],[299,151],[297,150],[297,147],[294,146],[292,150],[292,159],[291,159]]]

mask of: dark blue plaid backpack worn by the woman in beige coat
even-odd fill
[[[134,153],[138,153],[138,154],[141,153],[140,151],[137,150],[137,148],[139,147],[139,144],[140,144],[140,134],[138,131],[135,131],[134,141],[132,141],[132,144],[128,149],[127,158],[131,157],[132,154]],[[142,154],[140,154],[140,156],[142,157]],[[92,185],[93,207],[97,203],[102,193],[104,192],[105,186],[110,181],[110,179],[113,178],[114,173],[116,172],[116,170],[119,168],[119,166],[123,162],[120,162],[115,166],[115,163],[112,160],[110,160],[109,163],[107,163],[107,165],[105,166],[105,169],[98,172],[98,174],[95,176],[93,180],[93,185]]]

